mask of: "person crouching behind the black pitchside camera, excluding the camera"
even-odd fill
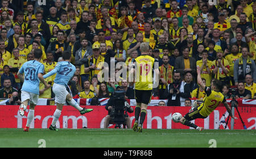
[[[122,91],[122,90],[123,90],[123,88],[121,86],[117,86],[116,91]],[[110,115],[112,115],[113,106],[115,104],[114,102],[115,102],[115,98],[114,98],[114,95],[112,95],[110,97],[108,103],[105,106],[105,109],[108,110],[108,115],[106,115],[106,117],[105,117],[104,128],[108,128],[109,123],[114,123],[113,117],[110,116]],[[134,111],[133,108],[125,101],[125,99],[124,99],[123,102],[124,102],[124,106],[125,106],[123,108],[124,110],[126,110],[129,113]],[[131,128],[131,120],[130,120],[130,117],[128,115],[125,115],[124,124],[127,125],[127,128],[129,128],[129,129]]]

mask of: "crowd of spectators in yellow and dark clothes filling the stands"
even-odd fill
[[[222,93],[237,87],[236,99],[256,99],[256,3],[253,0],[2,0],[0,6],[0,98],[20,94],[20,66],[43,51],[48,73],[71,51],[76,73],[69,82],[74,98],[109,98],[117,86],[134,99],[134,82],[101,82],[97,75],[113,62],[133,62],[142,42],[159,62],[159,85],[152,99],[159,106],[189,105],[203,99],[196,68],[206,86],[214,79],[225,84]],[[215,3],[215,1],[213,1]],[[41,4],[41,5],[40,5]],[[114,72],[118,73],[118,67]],[[129,75],[129,70],[127,77]],[[53,85],[54,76],[46,78]],[[255,94],[255,96],[254,96]],[[53,98],[40,85],[39,98]],[[187,102],[185,102],[187,101]],[[190,101],[191,105],[191,101]]]

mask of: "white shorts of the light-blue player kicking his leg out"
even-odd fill
[[[66,103],[66,97],[69,93],[65,86],[54,83],[52,86],[52,91],[55,94],[55,103]]]

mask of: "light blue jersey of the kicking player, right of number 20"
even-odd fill
[[[55,68],[51,70],[51,72],[44,74],[43,77],[47,78],[57,73],[54,83],[67,86],[69,80],[74,76],[75,72],[76,72],[76,67],[73,64],[71,64],[71,62],[60,61],[60,62],[57,62]]]

